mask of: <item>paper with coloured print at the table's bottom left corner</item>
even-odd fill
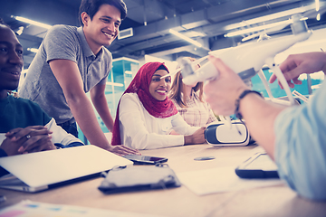
[[[0,210],[0,217],[159,217],[158,215],[121,212],[111,210],[92,209],[83,206],[58,205],[51,203],[38,203],[22,201],[13,206]],[[163,216],[160,216],[163,217]]]

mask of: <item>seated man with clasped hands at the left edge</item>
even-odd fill
[[[22,45],[0,19],[0,157],[83,146],[36,103],[8,94],[17,89],[23,64]],[[0,168],[0,176],[5,174]]]

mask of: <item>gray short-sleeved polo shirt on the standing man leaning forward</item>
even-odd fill
[[[50,117],[61,124],[73,116],[49,65],[49,61],[56,59],[77,63],[83,90],[88,92],[97,84],[105,85],[112,68],[112,55],[105,47],[94,55],[86,42],[82,27],[54,25],[48,31],[28,69],[19,95],[38,103]]]

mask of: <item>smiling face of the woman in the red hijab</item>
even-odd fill
[[[154,99],[157,99],[159,101],[163,101],[164,99],[166,99],[168,96],[168,91],[171,89],[170,76],[164,79],[160,79],[166,74],[168,74],[168,71],[155,71],[149,83],[149,93]]]

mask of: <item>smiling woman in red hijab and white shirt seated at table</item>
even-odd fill
[[[171,78],[161,79],[167,74],[168,68],[162,62],[148,62],[139,69],[120,99],[113,146],[153,149],[206,143],[205,127],[187,125],[168,99]]]

